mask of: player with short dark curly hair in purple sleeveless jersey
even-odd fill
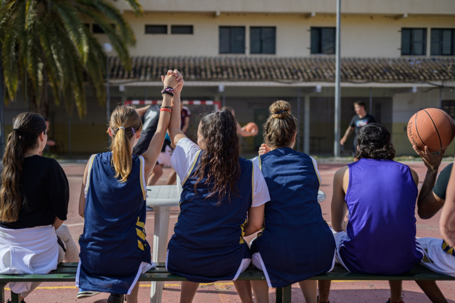
[[[385,127],[377,123],[363,126],[357,144],[359,160],[339,169],[333,180],[337,262],[354,273],[408,272],[423,258],[416,242],[414,215],[419,177],[408,166],[393,161],[395,149]],[[401,302],[401,281],[389,283],[387,302]],[[320,302],[328,301],[328,285],[330,281],[320,281]]]

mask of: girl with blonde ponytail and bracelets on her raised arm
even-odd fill
[[[156,266],[146,240],[146,176],[163,146],[169,125],[172,97],[180,98],[183,76],[168,71],[158,127],[142,156],[132,154],[141,137],[142,122],[132,107],[118,106],[112,113],[108,133],[111,151],[93,155],[85,167],[79,199],[84,218],[79,238],[80,263],[76,274],[77,298],[111,293],[109,303],[138,302],[139,275]],[[179,85],[180,84],[180,85]]]

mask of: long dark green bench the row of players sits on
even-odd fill
[[[61,263],[56,270],[49,274],[12,274],[0,275],[0,302],[5,301],[5,285],[8,282],[74,282],[76,279],[77,263]],[[240,274],[238,280],[265,280],[264,273],[250,266]],[[336,264],[330,273],[311,277],[309,280],[404,280],[404,281],[439,281],[455,280],[455,277],[435,273],[421,265],[416,265],[409,273],[393,276],[353,274]],[[164,263],[158,263],[156,268],[141,274],[139,281],[187,281],[186,278],[169,273]],[[74,293],[76,295],[76,292]],[[12,303],[19,303],[19,295],[11,292]],[[291,302],[291,285],[276,289],[277,303]]]

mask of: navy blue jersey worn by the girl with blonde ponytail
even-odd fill
[[[78,285],[87,290],[127,293],[141,263],[151,263],[144,229],[144,159],[133,155],[131,174],[120,183],[114,177],[111,158],[111,152],[90,158]]]

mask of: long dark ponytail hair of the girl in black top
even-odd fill
[[[21,193],[22,164],[24,154],[37,144],[41,132],[46,132],[44,118],[38,114],[22,113],[13,121],[13,131],[3,156],[2,185],[0,186],[0,221],[15,222],[21,206],[26,203]]]

